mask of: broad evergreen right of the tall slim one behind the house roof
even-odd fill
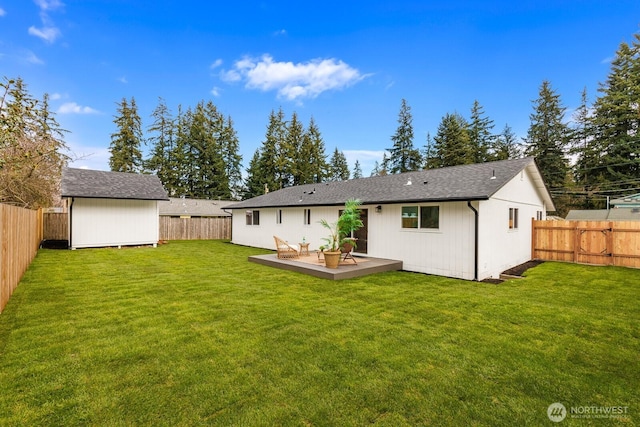
[[[474,151],[469,140],[469,125],[458,113],[447,113],[440,124],[435,141],[435,167],[466,165],[473,163]]]

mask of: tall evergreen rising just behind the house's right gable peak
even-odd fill
[[[533,101],[531,125],[524,139],[525,154],[536,158],[545,183],[551,188],[565,185],[568,172],[565,146],[570,130],[564,123],[565,108],[548,81],[540,86],[538,99]]]

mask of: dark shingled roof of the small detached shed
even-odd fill
[[[64,168],[61,187],[62,197],[168,200],[155,175]]]

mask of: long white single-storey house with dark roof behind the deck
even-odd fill
[[[318,221],[362,201],[357,255],[468,280],[498,277],[531,258],[531,219],[555,209],[532,158],[289,187],[228,206],[232,242],[274,249],[273,236],[317,249]]]

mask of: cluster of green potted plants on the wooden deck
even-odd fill
[[[360,201],[357,199],[347,200],[337,221],[329,223],[326,219],[321,219],[320,224],[329,230],[329,235],[322,239],[327,243],[323,245],[325,247],[323,251],[325,265],[327,268],[338,268],[342,255],[341,249],[347,242],[355,247],[355,239],[351,237],[351,234],[363,226],[360,219]]]

